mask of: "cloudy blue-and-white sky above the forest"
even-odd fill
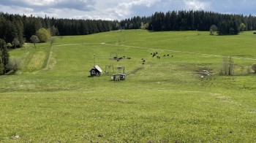
[[[54,18],[121,20],[169,10],[256,16],[255,0],[0,0],[0,11]]]

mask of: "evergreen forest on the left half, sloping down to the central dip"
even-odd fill
[[[118,21],[40,18],[0,12],[0,39],[7,43],[18,39],[22,45],[24,41],[30,42],[40,28],[48,29],[52,36],[86,35],[116,30],[116,23]]]

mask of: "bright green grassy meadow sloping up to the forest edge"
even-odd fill
[[[256,142],[255,39],[131,30],[26,44],[10,51],[22,69],[0,76],[0,142]],[[223,56],[235,75],[219,75]]]

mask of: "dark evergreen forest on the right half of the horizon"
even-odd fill
[[[193,10],[155,12],[148,18],[128,18],[121,20],[121,27],[138,29],[140,23],[149,23],[148,30],[152,31],[209,31],[212,25],[216,25],[220,35],[227,35],[238,34],[241,23],[245,24],[245,31],[256,30],[256,17],[252,15],[228,15]]]

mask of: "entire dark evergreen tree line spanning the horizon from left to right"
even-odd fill
[[[133,17],[117,20],[75,20],[12,15],[0,12],[0,39],[11,43],[12,47],[30,42],[40,28],[50,31],[52,36],[86,35],[124,29],[148,29],[150,31],[209,31],[217,26],[220,35],[238,34],[244,23],[244,31],[256,30],[256,17],[249,15],[229,15],[217,12],[180,10],[155,12],[149,17]],[[8,46],[10,47],[10,45]]]

